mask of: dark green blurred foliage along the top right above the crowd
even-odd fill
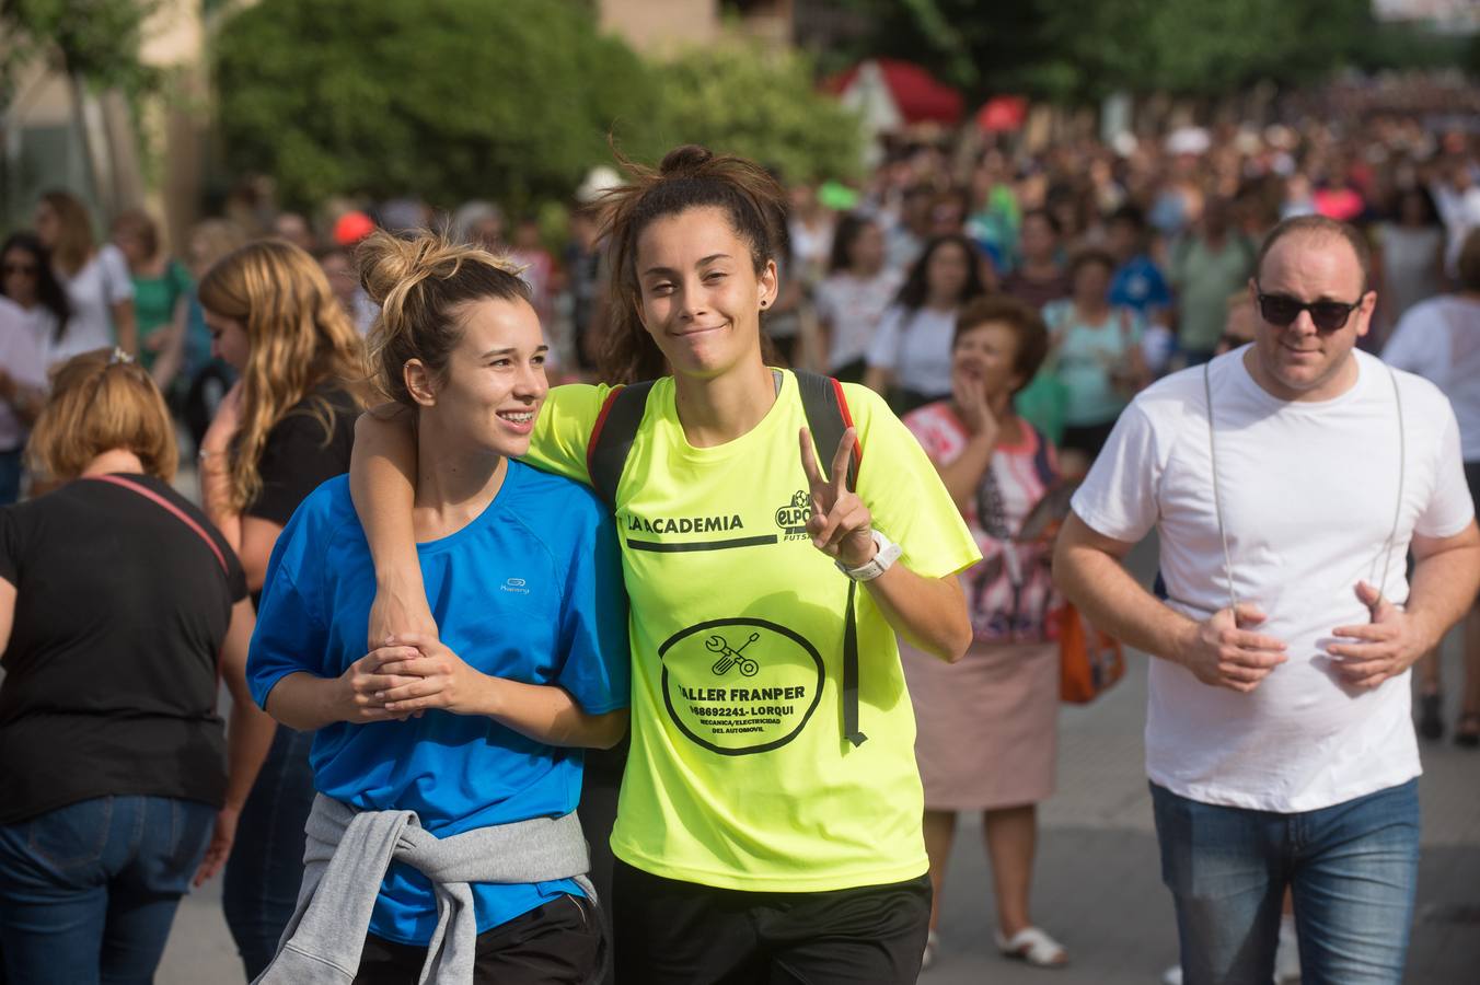
[[[1181,95],[1251,83],[1301,84],[1348,65],[1436,64],[1436,49],[1388,38],[1370,0],[847,0],[875,24],[854,55],[929,65],[980,99],[1026,92],[1064,102],[1113,90]],[[1400,30],[1399,30],[1400,31]]]

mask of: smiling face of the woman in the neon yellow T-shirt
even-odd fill
[[[638,237],[639,317],[675,374],[712,379],[761,361],[761,308],[776,263],[759,274],[750,244],[718,207],[654,219]]]

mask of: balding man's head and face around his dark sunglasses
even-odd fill
[[[1368,334],[1376,293],[1363,293],[1362,263],[1338,235],[1295,232],[1277,241],[1264,257],[1258,281],[1249,284],[1258,324],[1245,365],[1268,393],[1285,401],[1325,401],[1356,382],[1351,348]],[[1360,302],[1344,325],[1320,331],[1302,311],[1289,325],[1270,324],[1258,294],[1279,294],[1298,302]]]

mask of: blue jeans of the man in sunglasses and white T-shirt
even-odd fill
[[[1295,899],[1304,985],[1403,981],[1418,883],[1418,781],[1320,810],[1200,803],[1151,784],[1187,985],[1267,984]]]

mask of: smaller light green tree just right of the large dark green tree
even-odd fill
[[[657,143],[703,143],[781,172],[786,180],[851,177],[861,167],[857,117],[818,93],[798,55],[733,41],[656,68],[663,92]]]

